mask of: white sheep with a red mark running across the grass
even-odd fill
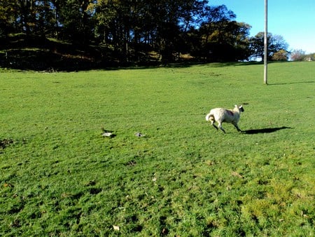
[[[222,123],[232,123],[237,131],[241,132],[239,126],[237,126],[241,112],[244,112],[243,106],[238,106],[236,104],[234,109],[211,109],[210,113],[206,116],[206,120],[211,121],[211,125],[214,126],[216,130],[218,130],[218,127],[223,130],[223,133],[225,133],[225,130],[222,127]],[[218,127],[214,124],[214,122],[218,122]]]

